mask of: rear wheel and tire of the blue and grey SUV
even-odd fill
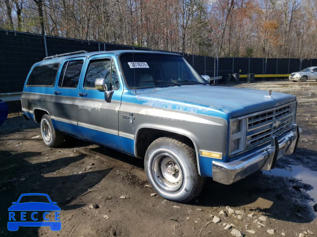
[[[49,115],[41,119],[41,133],[45,144],[49,147],[59,147],[64,142],[64,133],[55,130]]]

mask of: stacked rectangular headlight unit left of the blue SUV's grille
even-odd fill
[[[248,118],[236,119],[231,121],[231,140],[230,140],[230,155],[243,152],[246,146]]]

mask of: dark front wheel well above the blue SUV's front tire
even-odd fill
[[[156,128],[141,128],[136,137],[137,156],[139,158],[144,158],[145,153],[148,147],[151,145],[151,143],[160,137],[174,138],[196,150],[193,141],[185,135],[170,131],[164,131]]]

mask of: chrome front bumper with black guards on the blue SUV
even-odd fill
[[[295,152],[299,140],[299,127],[293,124],[283,137],[271,136],[271,144],[252,154],[231,162],[212,161],[212,179],[221,184],[232,184],[257,170],[274,168],[278,158]]]

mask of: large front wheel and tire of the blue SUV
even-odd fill
[[[144,167],[150,184],[165,199],[186,202],[203,189],[205,179],[198,173],[195,150],[176,139],[155,140],[145,154]]]

